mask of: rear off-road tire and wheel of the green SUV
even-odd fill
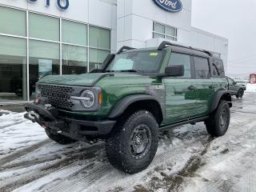
[[[225,113],[226,114],[223,114]],[[225,119],[223,119],[225,118]],[[226,134],[230,126],[230,106],[226,101],[218,104],[218,109],[210,114],[210,118],[206,120],[206,130],[214,137],[220,137]]]

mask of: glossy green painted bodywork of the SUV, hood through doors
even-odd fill
[[[166,55],[162,61],[160,73],[163,73],[170,59],[171,49],[166,48]],[[102,74],[53,75],[42,78],[39,83],[84,86],[93,85]],[[191,118],[199,118],[209,114],[210,106],[217,90],[226,90],[226,78],[158,78],[137,73],[114,73],[113,77],[100,79],[95,86],[102,88],[102,107],[98,111],[65,111],[67,115],[74,115],[85,120],[100,121],[107,118],[114,106],[123,98],[134,94],[148,94],[150,86],[165,87],[166,118],[162,125],[181,122]],[[189,90],[194,86],[196,90]],[[210,87],[213,88],[210,88]]]

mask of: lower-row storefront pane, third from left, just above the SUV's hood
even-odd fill
[[[87,73],[87,48],[62,45],[62,74]]]

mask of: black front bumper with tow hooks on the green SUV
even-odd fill
[[[58,116],[58,110],[54,107],[27,104],[25,109],[28,113],[25,118],[38,124],[45,129],[50,129],[56,134],[81,140],[86,135],[106,135],[113,129],[116,121],[90,122],[74,118],[63,118]]]

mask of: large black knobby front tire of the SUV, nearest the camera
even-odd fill
[[[142,155],[136,156],[134,155],[136,152],[132,152],[134,142],[130,140],[135,137],[133,137],[134,132],[137,133],[137,127],[140,126],[147,127],[150,138],[146,145],[147,150],[143,150]],[[152,162],[157,149],[158,123],[154,116],[146,110],[137,111],[128,117],[123,115],[106,139],[106,154],[110,164],[127,174],[136,174],[145,170]]]

